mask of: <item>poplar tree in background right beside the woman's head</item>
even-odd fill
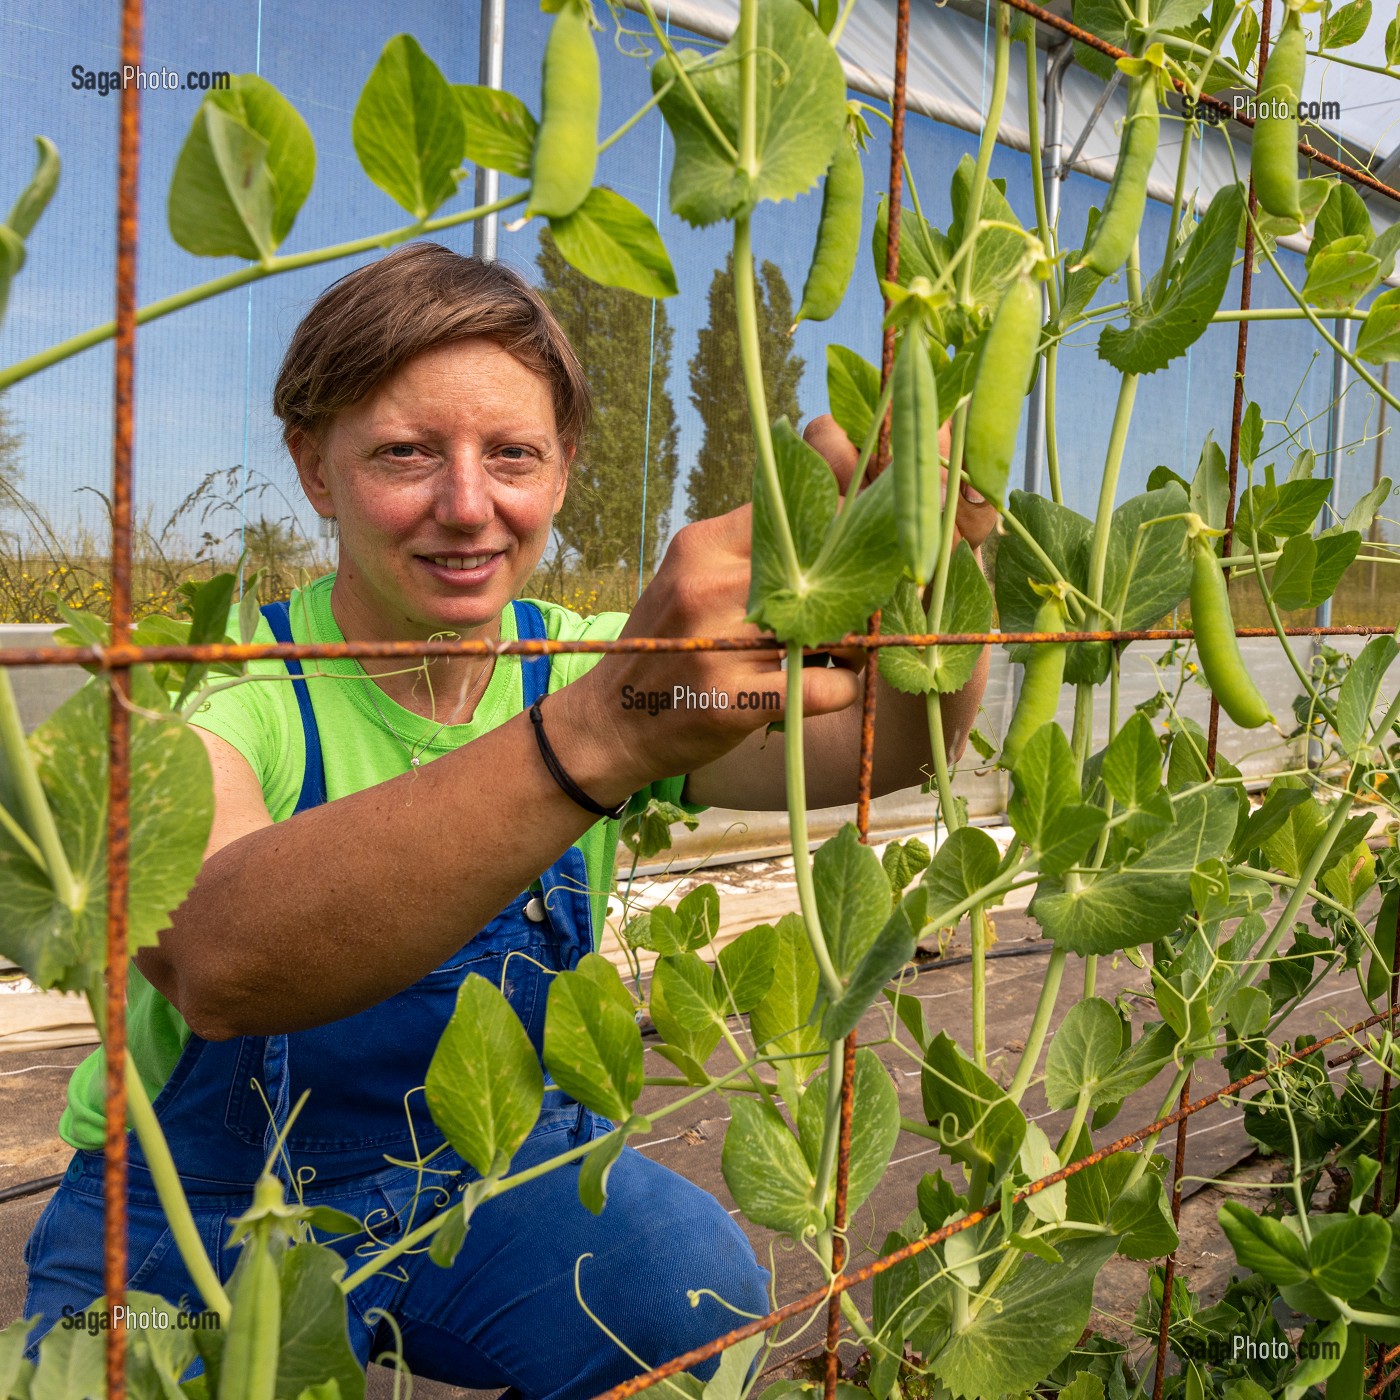
[[[673,332],[665,302],[589,281],[564,262],[547,228],[540,230],[535,263],[540,295],[564,328],[594,391],[594,420],[574,456],[554,529],[585,571],[622,566],[636,574],[638,556],[648,571],[654,570],[671,528],[676,482],[676,409],[666,388]]]

